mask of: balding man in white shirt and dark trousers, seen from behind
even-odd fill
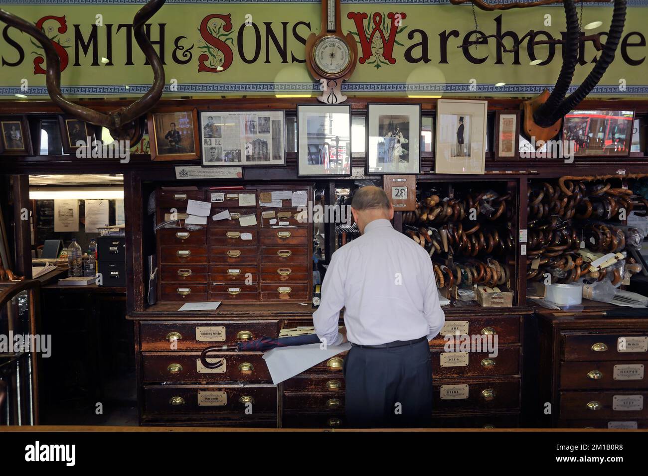
[[[382,188],[357,190],[351,213],[362,236],[331,256],[313,314],[327,345],[351,342],[344,359],[347,420],[353,427],[429,426],[428,340],[445,321],[430,256],[393,229],[394,209]]]

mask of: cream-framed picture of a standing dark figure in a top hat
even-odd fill
[[[488,101],[437,100],[434,172],[483,174]]]

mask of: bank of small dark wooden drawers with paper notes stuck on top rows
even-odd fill
[[[310,194],[309,187],[291,185],[282,190]],[[312,288],[308,214],[292,207],[291,199],[275,201],[281,207],[262,205],[259,200],[268,193],[272,190],[157,190],[158,223],[176,216],[184,226],[188,199],[212,203],[202,229],[157,231],[159,300],[308,300]],[[241,201],[243,196],[249,201]],[[231,220],[212,219],[224,210],[229,210]],[[241,226],[245,216],[254,216],[257,224]]]

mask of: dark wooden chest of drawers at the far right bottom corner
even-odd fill
[[[648,428],[648,313],[645,319],[538,316],[544,424]]]

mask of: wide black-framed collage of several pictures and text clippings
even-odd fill
[[[285,111],[201,111],[203,165],[284,165]]]

